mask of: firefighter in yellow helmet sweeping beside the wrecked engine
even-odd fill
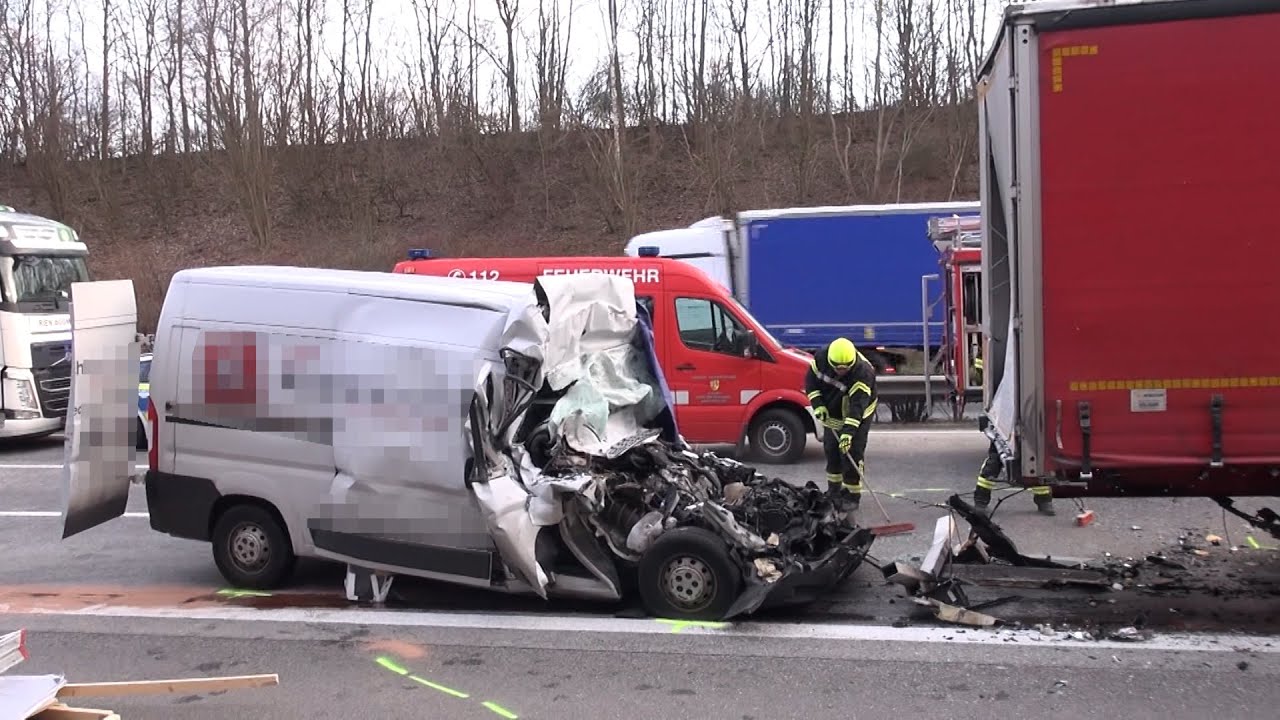
[[[809,363],[804,389],[823,424],[827,493],[842,511],[863,497],[867,434],[876,415],[876,368],[847,338],[836,338]]]

